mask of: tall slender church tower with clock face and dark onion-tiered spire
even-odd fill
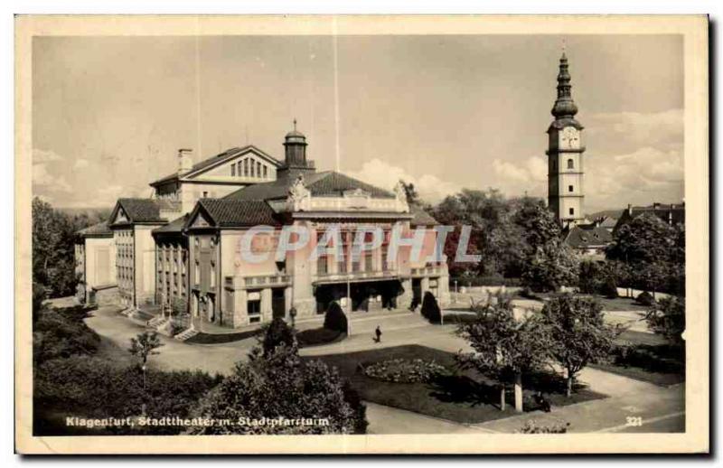
[[[565,52],[559,59],[558,98],[552,107],[555,120],[548,128],[548,206],[563,227],[584,219],[585,185],[583,126],[575,119],[577,106]]]

